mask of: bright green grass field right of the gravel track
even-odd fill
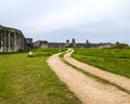
[[[73,57],[130,78],[130,49],[75,49]]]

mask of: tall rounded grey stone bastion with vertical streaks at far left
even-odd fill
[[[21,30],[0,25],[0,52],[16,52],[27,47]]]

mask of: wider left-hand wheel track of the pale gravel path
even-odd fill
[[[47,62],[58,78],[82,101],[82,104],[130,104],[129,94],[87,77],[63,63],[58,55],[52,55]]]

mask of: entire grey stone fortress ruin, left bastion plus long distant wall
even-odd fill
[[[0,52],[17,52],[25,48],[112,48],[114,43],[91,43],[89,40],[84,43],[76,43],[75,38],[66,42],[48,42],[47,40],[37,40],[32,42],[32,38],[24,37],[18,29],[4,27],[0,25]]]

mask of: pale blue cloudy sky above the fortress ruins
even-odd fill
[[[0,0],[0,25],[34,41],[130,44],[130,0]]]

